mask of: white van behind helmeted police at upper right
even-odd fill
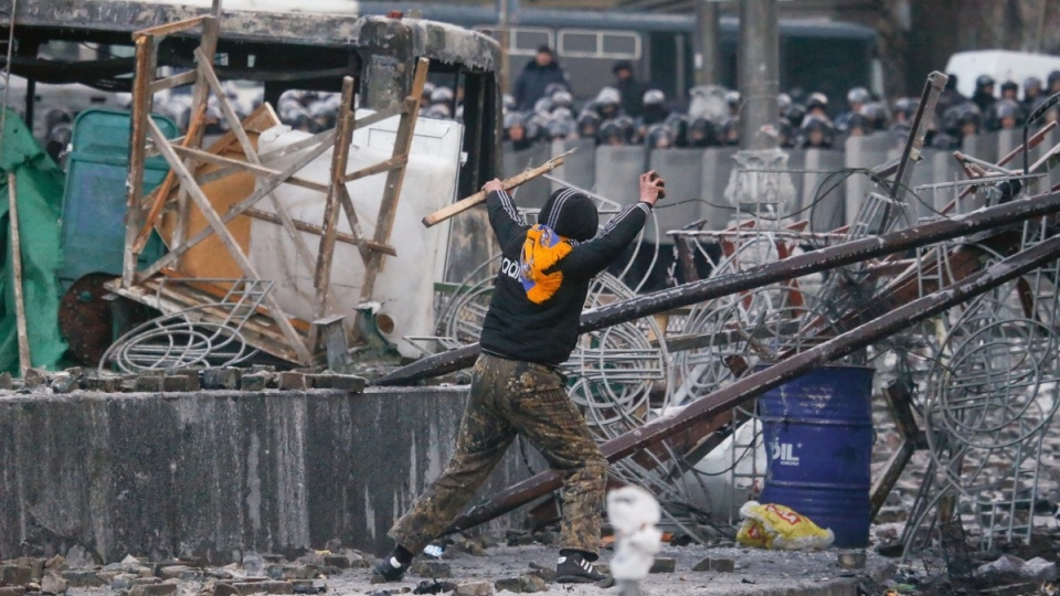
[[[965,97],[972,97],[975,93],[975,79],[988,74],[996,82],[994,95],[1001,95],[1001,83],[1014,81],[1019,85],[1022,98],[1024,81],[1028,76],[1037,76],[1045,86],[1046,77],[1052,71],[1060,71],[1060,56],[1009,50],[958,52],[950,56],[946,63],[946,74],[957,75],[957,91]]]

